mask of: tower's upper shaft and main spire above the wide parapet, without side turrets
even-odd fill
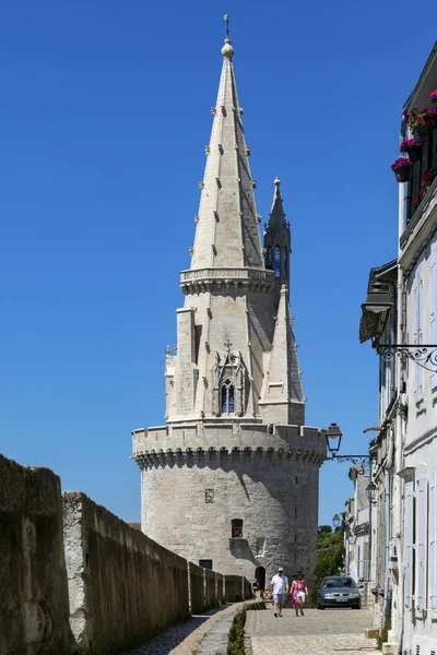
[[[168,422],[261,420],[261,362],[273,337],[273,273],[265,271],[245,133],[226,37],[191,267],[167,357]]]

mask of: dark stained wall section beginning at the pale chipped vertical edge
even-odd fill
[[[63,493],[71,628],[80,652],[110,653],[185,619],[187,562],[97,505]]]

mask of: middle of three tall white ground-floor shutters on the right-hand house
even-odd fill
[[[427,532],[428,532],[428,480],[425,467],[416,468],[416,588],[417,611],[426,609]]]

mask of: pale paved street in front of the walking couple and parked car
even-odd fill
[[[380,655],[376,641],[364,636],[365,629],[373,628],[367,609],[306,609],[298,618],[285,609],[281,619],[268,607],[247,612],[246,636],[253,655]]]

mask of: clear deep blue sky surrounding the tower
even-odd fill
[[[307,424],[339,422],[358,453],[377,425],[361,303],[397,254],[389,165],[434,22],[412,27],[403,0],[3,3],[0,451],[128,521],[130,431],[164,421],[226,12],[258,211],[277,175],[293,227]],[[320,523],[343,511],[347,468],[323,466]]]

